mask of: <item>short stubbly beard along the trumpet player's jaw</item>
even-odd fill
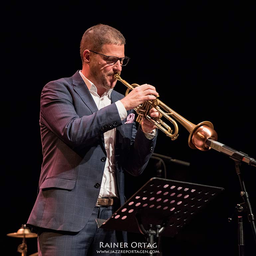
[[[91,65],[90,77],[93,77],[92,82],[97,88],[106,89],[106,90],[113,88],[117,82],[114,79],[113,72],[107,72],[107,73],[101,72],[100,68],[96,63]]]

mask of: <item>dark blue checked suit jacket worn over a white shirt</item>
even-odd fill
[[[121,204],[125,202],[124,171],[142,173],[156,138],[147,139],[140,128],[136,132],[135,122],[121,121],[113,102],[123,97],[113,90],[112,104],[98,110],[78,71],[45,85],[40,108],[43,163],[28,225],[64,231],[84,227],[100,192],[106,159],[103,133],[114,127],[118,192]]]

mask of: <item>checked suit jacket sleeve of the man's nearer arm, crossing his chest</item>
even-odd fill
[[[99,135],[122,124],[116,104],[95,112],[86,108],[79,115],[76,97],[68,83],[60,80],[48,83],[41,94],[40,122],[70,147],[89,146]]]

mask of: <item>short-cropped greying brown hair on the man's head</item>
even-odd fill
[[[105,44],[125,45],[125,38],[119,30],[104,24],[98,24],[87,29],[80,42],[82,62],[83,52],[86,49],[98,52]]]

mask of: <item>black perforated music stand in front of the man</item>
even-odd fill
[[[144,234],[149,243],[145,249],[156,249],[155,237],[174,237],[223,191],[218,187],[151,178],[110,218],[96,222],[99,228]]]

